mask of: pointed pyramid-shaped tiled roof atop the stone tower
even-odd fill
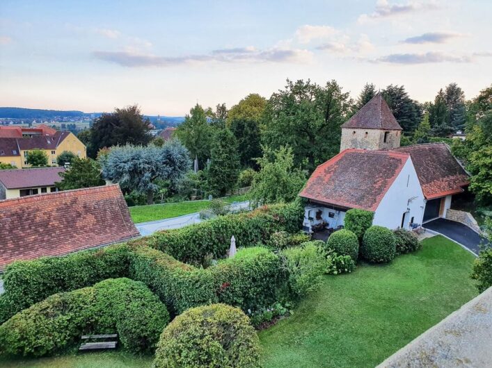
[[[345,122],[342,128],[403,130],[380,92],[360,108],[356,115]]]

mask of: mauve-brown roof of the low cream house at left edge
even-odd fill
[[[7,189],[47,187],[61,181],[58,174],[64,171],[63,167],[0,170],[0,183]]]

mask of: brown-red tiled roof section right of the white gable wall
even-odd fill
[[[470,184],[468,174],[444,143],[414,144],[396,151],[410,154],[426,199],[461,193]]]

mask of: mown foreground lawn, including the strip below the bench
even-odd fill
[[[390,265],[325,276],[294,315],[260,332],[264,367],[374,367],[477,294],[474,257],[444,237]],[[152,358],[89,353],[0,360],[1,367],[150,367]]]

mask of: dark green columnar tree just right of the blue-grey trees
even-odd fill
[[[239,176],[237,141],[229,129],[224,128],[214,135],[212,160],[208,170],[208,185],[214,195],[225,195],[232,190]]]

